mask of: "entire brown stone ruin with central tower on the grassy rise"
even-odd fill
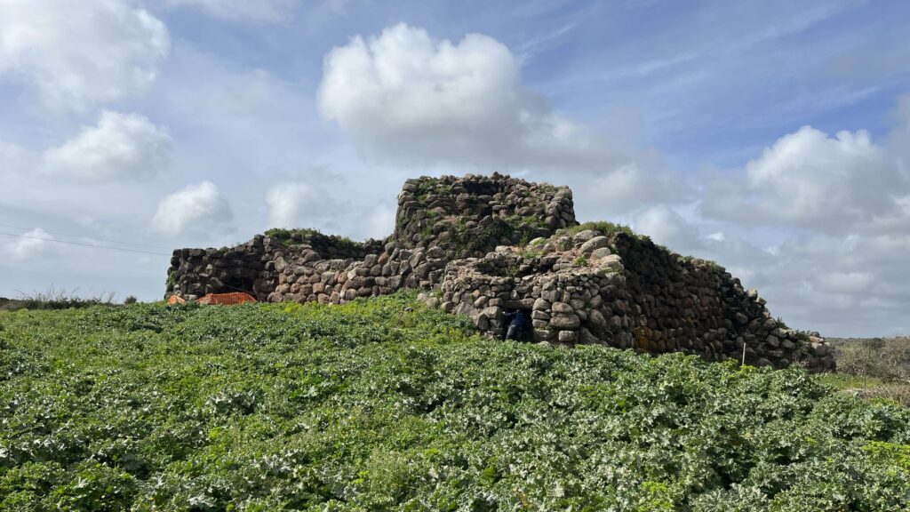
[[[248,292],[258,301],[341,303],[422,290],[500,338],[530,312],[533,341],[600,343],[709,361],[834,370],[817,334],[774,320],[757,292],[713,261],[682,257],[609,222],[579,226],[571,189],[494,174],[409,179],[395,231],[354,242],[270,230],[223,249],[174,251],[166,297]]]

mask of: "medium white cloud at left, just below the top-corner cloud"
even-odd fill
[[[51,173],[83,181],[151,179],[166,169],[171,138],[138,114],[104,111],[96,127],[85,127],[59,148],[45,151]]]

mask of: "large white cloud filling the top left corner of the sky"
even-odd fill
[[[167,27],[126,0],[0,2],[0,75],[21,77],[52,110],[144,90],[169,46]]]

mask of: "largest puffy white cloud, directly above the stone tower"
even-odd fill
[[[587,170],[629,162],[522,87],[518,59],[480,34],[452,43],[399,24],[356,36],[325,57],[318,104],[371,159]]]

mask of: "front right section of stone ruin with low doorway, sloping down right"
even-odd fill
[[[715,263],[602,226],[453,261],[440,294],[422,300],[469,315],[494,337],[506,327],[505,312],[523,309],[537,343],[834,369],[824,340],[774,320],[756,292]]]

